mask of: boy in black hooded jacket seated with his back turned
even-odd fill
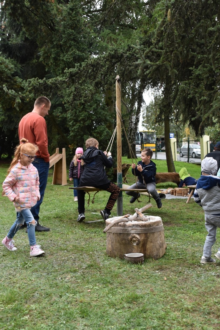
[[[84,171],[80,177],[79,187],[93,186],[110,192],[110,197],[104,210],[100,211],[103,220],[108,219],[111,210],[119,196],[120,188],[111,182],[104,167],[112,167],[113,159],[110,151],[99,150],[99,143],[94,138],[85,142],[86,150],[80,158],[84,161]],[[78,212],[77,221],[85,219],[85,191],[78,190]]]

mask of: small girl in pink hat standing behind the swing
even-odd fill
[[[69,179],[70,181],[73,180],[73,185],[74,187],[78,187],[79,185],[79,180],[82,175],[82,172],[84,170],[84,162],[83,160],[79,159],[83,155],[83,149],[82,148],[77,148],[76,149],[76,154],[73,157],[73,160],[70,163],[70,169],[69,169]],[[77,190],[73,190],[74,194],[74,202],[78,201],[77,198]]]

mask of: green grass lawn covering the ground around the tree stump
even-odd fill
[[[131,160],[123,157],[122,162]],[[155,163],[158,172],[167,172],[166,161]],[[200,166],[175,162],[177,172],[183,166],[199,178]],[[7,167],[1,164],[1,185]],[[127,178],[129,184],[135,182],[131,170]],[[166,253],[133,265],[108,257],[103,222],[76,222],[77,203],[68,189],[72,183],[51,182],[52,170],[40,213],[41,224],[50,231],[36,233],[45,255],[29,256],[25,230],[15,236],[16,252],[0,247],[0,329],[219,329],[220,262],[200,264],[206,230],[203,210],[193,199],[189,204],[185,199],[165,199],[160,210],[151,200],[148,214],[162,218]],[[101,191],[94,204],[86,204],[86,220],[100,218],[92,212],[99,213],[108,196]],[[7,197],[0,198],[2,240],[15,210]],[[133,214],[135,207],[148,202],[143,197],[139,205],[130,204],[129,199],[123,195],[124,213]],[[219,246],[217,232],[213,254]]]

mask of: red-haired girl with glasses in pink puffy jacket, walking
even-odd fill
[[[26,139],[21,139],[19,146],[16,147],[15,156],[8,169],[8,176],[3,182],[3,190],[9,200],[13,202],[17,217],[10,228],[2,244],[9,251],[16,251],[13,237],[20,226],[27,224],[27,234],[30,243],[30,256],[38,256],[45,253],[40,245],[36,244],[35,226],[37,222],[30,211],[40,199],[39,176],[36,167],[31,163],[36,158],[38,147],[29,143]]]

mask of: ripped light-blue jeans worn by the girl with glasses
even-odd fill
[[[16,232],[19,230],[19,227],[22,224],[24,224],[24,221],[25,221],[27,224],[27,235],[28,235],[30,246],[36,245],[35,226],[37,225],[37,222],[35,222],[35,224],[30,223],[33,220],[34,220],[34,218],[33,218],[33,215],[31,213],[30,209],[24,209],[24,210],[21,210],[21,212],[17,212],[16,220],[15,220],[14,224],[11,226],[7,237],[9,239],[13,239]]]

